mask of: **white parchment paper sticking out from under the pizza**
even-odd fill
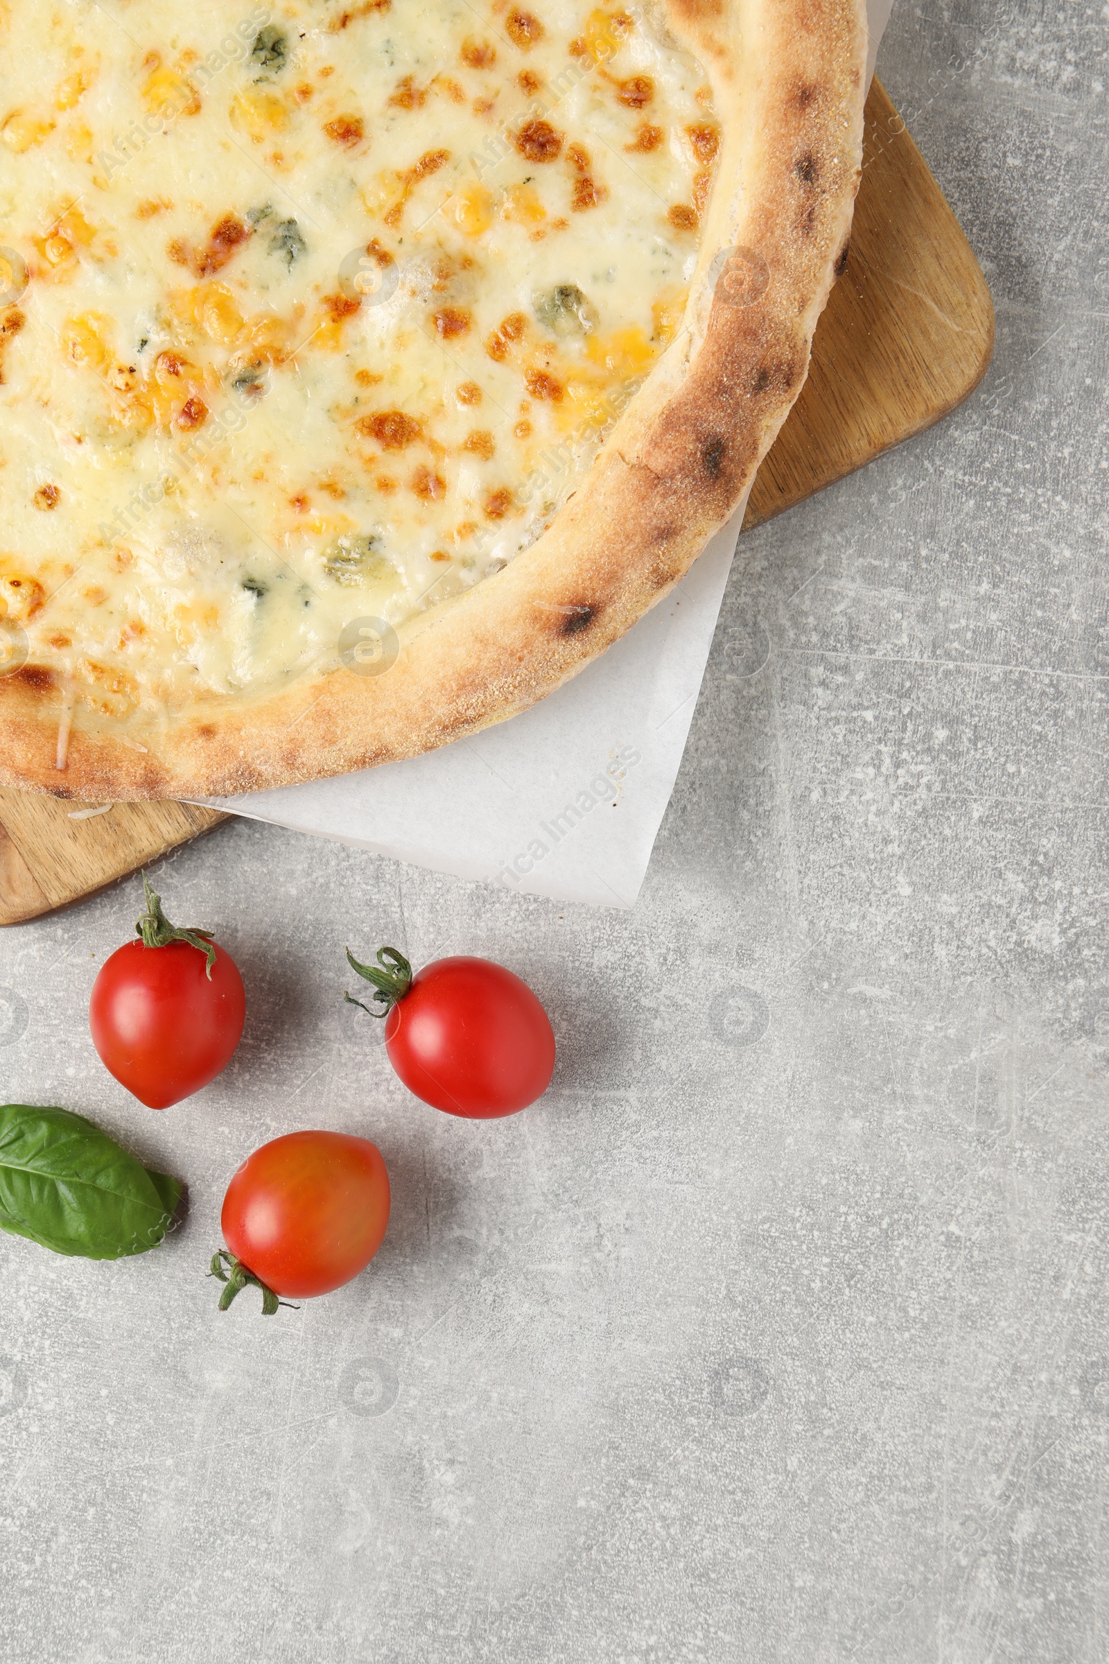
[[[870,70],[893,0],[868,0]],[[539,706],[442,750],[214,807],[509,890],[632,907],[685,750],[743,504],[673,594]],[[758,642],[752,644],[753,674]]]

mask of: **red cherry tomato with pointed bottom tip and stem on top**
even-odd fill
[[[226,1068],[243,1033],[246,995],[229,953],[198,932],[175,932],[146,887],[145,937],[101,967],[88,1027],[105,1068],[151,1110],[200,1092]],[[211,975],[208,968],[211,965]]]

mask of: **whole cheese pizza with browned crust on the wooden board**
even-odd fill
[[[412,755],[750,488],[846,258],[860,0],[0,0],[0,779]]]

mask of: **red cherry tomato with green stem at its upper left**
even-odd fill
[[[492,1120],[525,1110],[550,1085],[550,1020],[527,983],[504,965],[437,958],[412,977],[396,948],[379,952],[381,972],[359,967],[349,952],[347,958],[359,975],[372,972],[367,980],[392,1002],[386,1018],[389,1062],[424,1103]]]

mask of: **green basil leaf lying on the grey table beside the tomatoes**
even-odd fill
[[[55,1253],[120,1260],[166,1235],[181,1186],[83,1115],[0,1107],[0,1226]]]

